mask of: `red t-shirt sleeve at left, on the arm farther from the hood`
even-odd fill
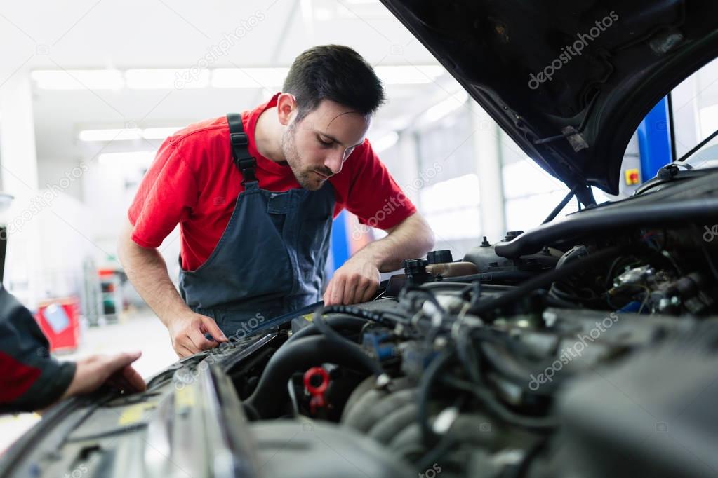
[[[172,138],[162,143],[128,211],[132,240],[141,247],[159,247],[197,204],[197,175]]]

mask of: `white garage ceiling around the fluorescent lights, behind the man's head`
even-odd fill
[[[0,6],[0,83],[32,70],[187,69],[226,46],[211,68],[289,66],[315,44],[348,44],[375,65],[437,64],[386,8],[373,0],[75,0]],[[397,118],[418,115],[457,90],[437,83],[387,88],[389,103],[373,134]],[[263,89],[34,90],[37,154],[41,161],[88,159],[99,150],[151,149],[122,141],[83,143],[83,128],[185,125],[257,105]],[[8,118],[3,118],[8,120]],[[372,137],[372,133],[370,133]]]

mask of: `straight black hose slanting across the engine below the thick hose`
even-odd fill
[[[559,269],[553,269],[545,274],[539,275],[538,277],[528,279],[526,282],[516,287],[516,289],[510,290],[505,294],[499,295],[498,297],[491,297],[488,300],[481,300],[474,307],[471,307],[467,313],[472,315],[481,315],[485,312],[500,309],[506,305],[516,304],[516,302],[523,299],[534,290],[541,289],[542,287],[549,287],[559,279],[564,279],[565,277],[572,276],[579,272],[584,272],[588,267],[605,262],[607,259],[622,253],[624,249],[625,247],[609,247],[607,249],[603,249],[602,251],[594,252],[589,256],[582,257],[581,259],[575,259],[573,262],[569,262],[563,267],[559,267]]]

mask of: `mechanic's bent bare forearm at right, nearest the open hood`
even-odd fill
[[[432,247],[434,233],[417,213],[391,229],[388,236],[367,244],[354,257],[376,264],[379,272],[391,272],[399,269],[404,259],[423,257]]]

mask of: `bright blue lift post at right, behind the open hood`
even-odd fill
[[[659,169],[673,162],[668,97],[661,99],[638,126],[638,148],[642,183],[655,177]]]

